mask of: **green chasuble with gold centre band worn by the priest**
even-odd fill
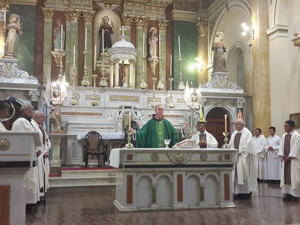
[[[155,115],[136,132],[137,148],[164,148],[165,139],[171,139],[169,148],[172,148],[182,140],[182,133],[179,130],[177,134],[177,129],[168,120],[158,120]]]

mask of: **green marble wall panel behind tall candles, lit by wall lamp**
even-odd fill
[[[180,36],[180,50],[182,61],[182,81],[185,82],[188,79],[189,83],[193,81],[193,87],[198,87],[197,71],[190,70],[190,64],[196,63],[195,58],[197,57],[198,40],[197,30],[195,22],[174,20],[173,24],[173,88],[178,90],[179,83],[179,45],[178,35]]]

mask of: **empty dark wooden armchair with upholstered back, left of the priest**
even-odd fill
[[[102,166],[105,166],[105,157],[107,156],[107,151],[105,151],[104,141],[98,132],[90,131],[87,135],[85,135],[83,152],[85,155],[85,168],[88,167],[88,155],[97,155],[99,157],[98,167],[100,167],[100,158],[103,155]]]

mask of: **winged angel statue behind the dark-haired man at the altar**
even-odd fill
[[[187,105],[188,111],[190,112],[189,115],[189,134],[196,134],[198,132],[197,130],[197,124],[199,121],[204,121],[202,108],[200,104],[201,100],[201,84],[199,84],[199,88],[189,88],[188,81],[185,85],[185,91],[184,91],[184,101]]]

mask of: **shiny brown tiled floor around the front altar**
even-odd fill
[[[259,183],[258,193],[252,200],[235,201],[236,208],[121,213],[112,203],[111,186],[51,188],[46,206],[39,203],[26,213],[26,225],[300,223],[300,203],[283,202],[279,184]]]

